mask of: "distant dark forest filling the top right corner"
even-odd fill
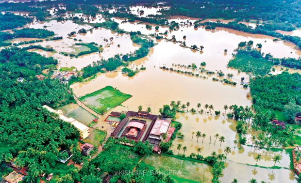
[[[162,10],[164,15],[184,15],[198,18],[225,18],[238,21],[264,20],[276,30],[293,31],[301,27],[297,0],[211,0],[210,2],[171,0],[170,9]]]

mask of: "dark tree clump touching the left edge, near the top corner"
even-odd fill
[[[5,13],[4,15],[0,14],[0,31],[22,27],[31,21],[32,19],[29,17],[21,15],[14,15],[12,13]]]

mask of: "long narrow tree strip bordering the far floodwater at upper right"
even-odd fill
[[[204,22],[204,23],[200,23],[198,25],[208,26],[213,29],[215,29],[215,27],[224,27],[224,28],[234,29],[237,31],[249,32],[252,34],[269,35],[269,36],[277,37],[277,38],[292,42],[292,43],[296,44],[299,48],[301,48],[301,38],[300,37],[283,35],[281,33],[275,32],[275,30],[277,30],[277,29],[271,29],[270,26],[267,26],[267,25],[264,25],[264,26],[260,25],[260,26],[257,26],[255,29],[252,29],[250,26],[246,26],[245,24],[242,24],[242,23],[238,24],[237,21],[229,22],[227,24],[224,24],[221,22]]]

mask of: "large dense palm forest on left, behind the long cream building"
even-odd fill
[[[24,181],[36,182],[41,173],[57,168],[59,149],[76,145],[75,127],[42,108],[70,102],[72,92],[59,80],[35,77],[41,74],[39,66],[56,64],[53,59],[17,48],[2,49],[0,59],[0,172],[14,160],[16,166],[27,167]],[[18,77],[25,81],[17,82]]]

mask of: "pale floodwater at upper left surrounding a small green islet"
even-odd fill
[[[78,25],[73,23],[72,21],[66,22],[57,22],[55,20],[49,22],[34,22],[33,24],[29,24],[29,28],[34,29],[43,29],[46,26],[46,29],[49,31],[53,31],[55,36],[62,36],[62,40],[55,41],[44,41],[39,43],[33,43],[31,45],[41,45],[44,47],[50,46],[56,51],[56,53],[52,54],[54,59],[59,61],[60,67],[71,67],[74,66],[77,69],[82,69],[83,67],[92,64],[93,61],[100,61],[101,59],[108,59],[113,57],[116,54],[127,54],[134,52],[139,46],[133,44],[130,35],[128,34],[118,34],[116,32],[98,28],[92,29],[91,26],[87,25]],[[90,30],[85,34],[76,34],[74,36],[69,37],[67,34],[72,31],[79,31],[80,29]],[[110,41],[110,38],[113,37],[113,41]],[[80,41],[75,41],[74,38]],[[105,42],[103,39],[109,40]],[[14,40],[13,40],[14,41]],[[19,41],[19,40],[16,40]],[[72,53],[74,52],[75,43],[91,43],[95,42],[99,46],[103,46],[103,51],[101,53],[91,53],[88,55],[84,55],[78,58],[72,58],[69,56],[64,56],[60,54],[60,52]],[[119,46],[118,46],[119,45]],[[28,46],[28,45],[22,45]],[[44,54],[48,55],[48,54]]]

